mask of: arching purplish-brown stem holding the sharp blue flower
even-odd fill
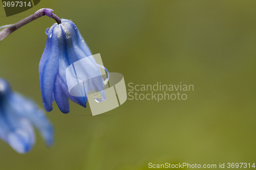
[[[17,23],[14,23],[12,25],[8,25],[8,26],[2,26],[0,27],[0,41],[2,39],[4,39],[6,36],[8,36],[9,34],[11,34],[13,31],[17,30],[18,28],[26,25],[27,23],[41,17],[44,15],[49,16],[50,18],[53,18],[56,20],[56,22],[58,24],[61,23],[61,20],[59,19],[59,17],[57,15],[55,15],[54,13],[52,13],[52,9],[49,8],[42,8],[39,9],[38,11],[36,11],[34,14],[28,16],[27,18],[18,21]],[[1,31],[2,30],[2,31]]]

